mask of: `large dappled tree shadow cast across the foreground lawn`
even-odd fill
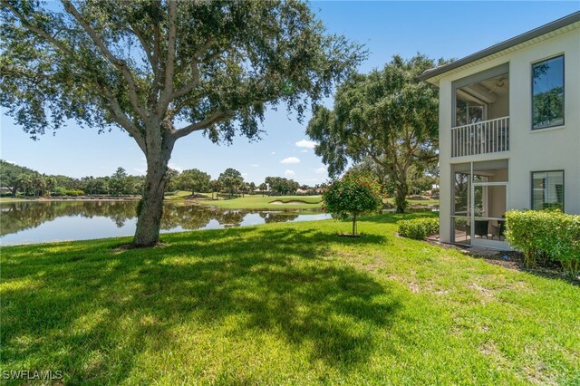
[[[236,320],[232,336],[266,333],[309,361],[345,369],[368,360],[377,331],[400,308],[387,285],[327,256],[328,243],[382,236],[237,228],[164,238],[169,246],[153,250],[113,251],[107,240],[37,246],[38,256],[9,250],[3,370],[28,363],[63,370],[72,382],[119,382],[140,353],[179,351],[176,329],[228,318]]]

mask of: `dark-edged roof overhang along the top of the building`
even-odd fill
[[[559,34],[565,34],[575,28],[580,28],[580,11],[574,14],[568,14],[552,23],[542,25],[527,33],[519,34],[504,42],[494,44],[491,47],[478,51],[477,53],[472,53],[457,61],[427,70],[420,74],[419,79],[421,81],[438,84],[443,75],[449,75],[449,73],[459,72],[479,63],[488,62],[503,54],[542,42]]]

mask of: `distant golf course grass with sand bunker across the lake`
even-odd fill
[[[272,204],[281,201],[283,204]],[[300,201],[300,204],[293,204]],[[247,195],[243,198],[228,198],[219,200],[198,200],[200,204],[223,207],[224,209],[320,209],[323,206],[321,196],[264,196]]]

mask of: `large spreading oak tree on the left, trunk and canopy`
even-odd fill
[[[0,0],[0,102],[33,138],[67,120],[127,131],[147,159],[133,243],[159,241],[176,140],[301,118],[362,59],[296,1]],[[198,145],[203,146],[203,145]]]

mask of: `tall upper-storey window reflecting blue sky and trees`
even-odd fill
[[[532,130],[564,124],[564,55],[532,65]]]

